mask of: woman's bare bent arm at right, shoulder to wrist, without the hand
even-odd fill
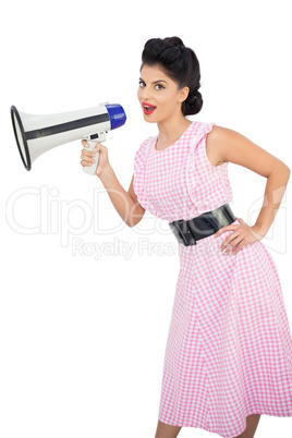
[[[208,150],[218,157],[218,161],[230,161],[267,178],[263,207],[255,223],[258,233],[265,236],[281,205],[290,168],[245,136],[227,127],[215,125],[207,135],[207,142]]]

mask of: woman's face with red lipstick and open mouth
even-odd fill
[[[188,88],[179,89],[178,83],[167,76],[159,65],[145,64],[141,71],[137,97],[144,119],[149,123],[163,122],[182,115],[182,101]]]

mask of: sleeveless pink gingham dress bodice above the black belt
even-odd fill
[[[206,154],[206,136],[214,124],[193,122],[163,150],[156,149],[157,136],[141,145],[134,161],[134,192],[145,209],[172,222],[232,202],[228,161],[214,166]]]

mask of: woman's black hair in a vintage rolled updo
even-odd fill
[[[182,102],[183,115],[197,114],[203,107],[199,63],[194,50],[185,47],[181,38],[151,38],[142,52],[142,68],[159,65],[166,74],[178,83],[179,89],[188,87],[188,96]]]

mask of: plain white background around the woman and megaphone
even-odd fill
[[[154,438],[179,273],[175,238],[148,212],[129,229],[99,179],[82,172],[77,141],[27,172],[10,106],[46,114],[121,104],[126,124],[105,145],[127,190],[136,149],[157,133],[136,97],[143,47],[179,36],[200,63],[204,107],[190,119],[238,131],[291,168],[290,2],[19,0],[5,4],[0,32],[0,435]],[[254,224],[266,179],[233,163],[229,178],[235,216]],[[290,324],[291,205],[289,183],[261,241]],[[96,230],[84,224],[92,214]],[[292,418],[263,415],[257,436],[287,438],[291,428]]]

